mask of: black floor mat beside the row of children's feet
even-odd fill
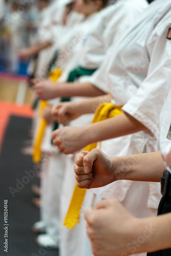
[[[4,137],[0,156],[0,255],[57,256],[57,250],[39,248],[34,242],[36,234],[31,231],[33,223],[39,220],[39,210],[31,203],[34,196],[31,186],[38,184],[39,181],[36,177],[33,178],[35,165],[31,157],[20,154],[24,140],[29,139],[30,125],[29,118],[11,116]],[[32,176],[29,177],[27,172]],[[4,227],[6,227],[4,200],[6,199],[8,199],[9,224],[7,226],[8,252],[4,251]]]

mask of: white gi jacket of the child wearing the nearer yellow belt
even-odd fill
[[[113,102],[124,104],[123,111],[142,122],[151,134],[139,132],[102,142],[101,150],[110,156],[159,150],[158,117],[170,88],[171,41],[166,39],[170,7],[170,1],[163,4],[156,0],[113,49],[116,51],[108,70]],[[133,181],[117,181],[93,190],[102,198],[123,201],[132,184]],[[149,182],[147,207],[157,208],[160,197],[160,184]]]

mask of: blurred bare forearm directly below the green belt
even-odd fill
[[[55,89],[56,97],[73,97],[73,96],[83,96],[83,97],[96,97],[100,95],[105,95],[105,92],[94,87],[89,82],[66,82],[57,83]]]

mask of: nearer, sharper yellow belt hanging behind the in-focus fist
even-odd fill
[[[100,122],[105,119],[117,116],[122,113],[122,106],[115,106],[112,103],[102,103],[99,105],[98,109],[95,112],[92,123]],[[97,147],[97,143],[92,143],[86,147],[84,147],[83,151],[91,151],[93,148]],[[82,207],[82,203],[84,200],[84,196],[86,195],[86,188],[79,188],[77,183],[75,184],[75,188],[73,191],[72,199],[70,202],[70,206],[68,208],[68,212],[66,218],[63,222],[63,225],[73,229],[75,224],[79,222],[79,214]]]

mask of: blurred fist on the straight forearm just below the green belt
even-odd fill
[[[55,98],[56,83],[48,79],[41,80],[35,83],[35,92],[41,100],[48,100]]]

